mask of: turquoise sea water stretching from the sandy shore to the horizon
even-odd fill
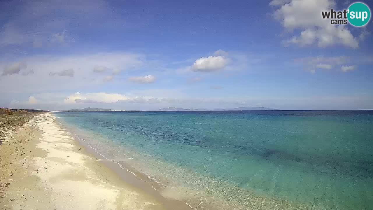
[[[54,114],[165,196],[232,209],[373,207],[372,111]]]

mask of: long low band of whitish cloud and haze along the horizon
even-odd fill
[[[154,89],[154,97],[141,96],[131,94],[118,94],[118,93],[79,93],[76,92],[68,97],[56,93],[43,93],[33,95],[38,99],[36,104],[30,104],[28,100],[19,101],[10,99],[10,104],[7,106],[13,108],[40,108],[50,110],[63,110],[71,108],[85,108],[85,107],[98,107],[98,108],[113,108],[113,109],[133,109],[133,110],[154,110],[164,107],[182,107],[182,108],[234,108],[239,106],[260,106],[270,108],[283,108],[289,109],[289,105],[295,105],[292,109],[348,109],[359,108],[369,109],[372,107],[373,101],[370,97],[364,95],[353,96],[307,96],[307,97],[226,97],[220,98],[185,98],[181,94],[176,96],[162,97],[164,92],[156,91]],[[175,92],[176,93],[176,92]],[[151,95],[147,91],[145,95]],[[161,96],[159,94],[162,94]],[[158,95],[156,97],[156,95]],[[363,97],[364,96],[364,97]],[[58,99],[56,101],[56,99]],[[65,99],[65,100],[64,100]],[[32,99],[31,99],[32,101]],[[320,101],[322,103],[320,103]],[[358,102],[358,103],[357,103]],[[1,103],[1,102],[0,102]],[[343,108],[340,105],[343,105]],[[357,107],[355,107],[358,104]],[[355,105],[355,106],[354,106]]]

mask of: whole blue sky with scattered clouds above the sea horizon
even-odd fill
[[[373,1],[361,1],[373,8]],[[0,107],[373,109],[354,1],[1,1]]]

